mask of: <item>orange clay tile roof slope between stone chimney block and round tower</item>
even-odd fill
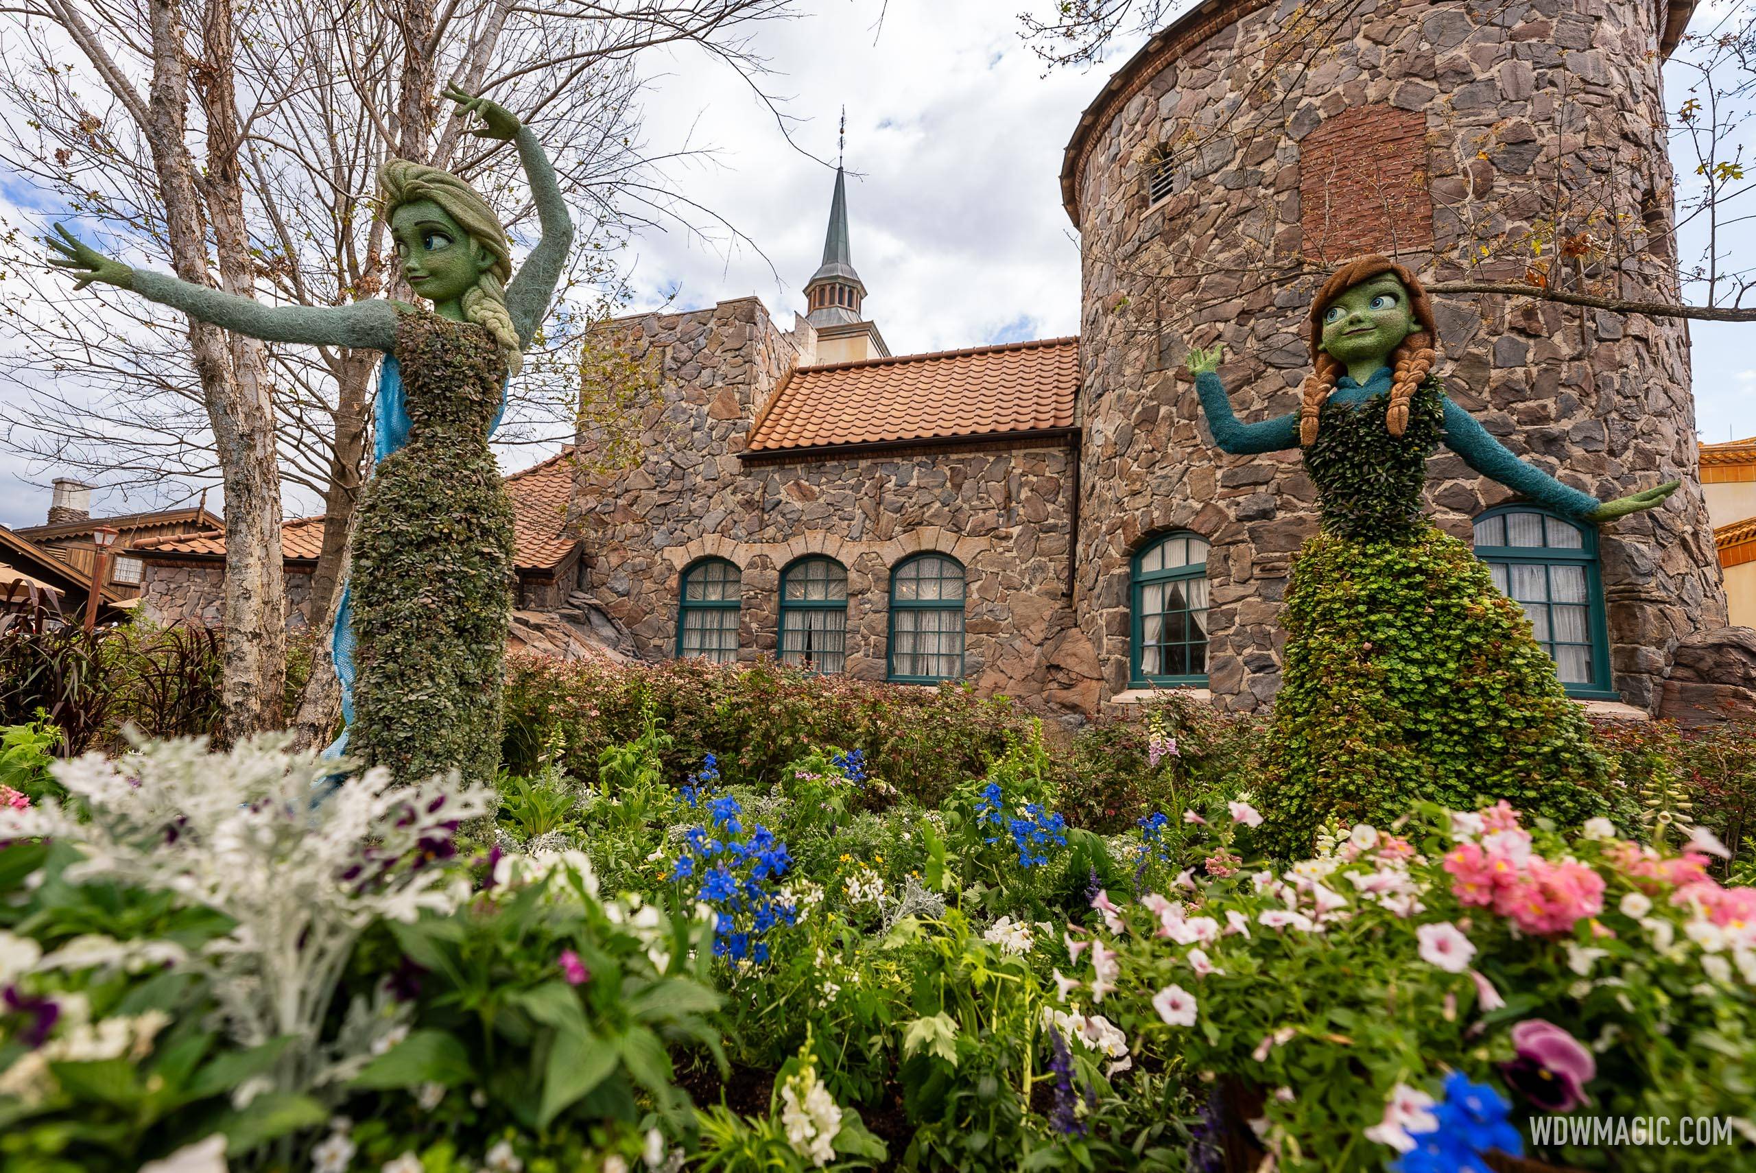
[[[1076,337],[801,367],[746,451],[1066,428],[1078,385]]]

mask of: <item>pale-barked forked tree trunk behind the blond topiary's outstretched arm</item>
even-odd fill
[[[242,184],[237,170],[237,118],[232,95],[232,19],[227,0],[209,9],[202,61],[209,137],[214,142],[205,184],[220,253],[221,281],[253,295],[253,269],[242,232]],[[153,81],[144,126],[165,200],[172,270],[183,281],[211,284],[202,223],[202,186],[190,158],[186,102],[190,74],[183,19],[174,0],[149,0]],[[214,37],[220,37],[218,46]],[[218,116],[218,125],[214,118]],[[230,188],[230,191],[228,191]],[[225,643],[221,736],[227,741],[279,723],[286,680],[286,581],[281,565],[281,483],[274,414],[262,385],[262,349],[220,327],[190,320],[190,349],[200,376],[225,485]]]

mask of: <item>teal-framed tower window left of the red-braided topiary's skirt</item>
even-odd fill
[[[1206,685],[1206,539],[1154,537],[1134,555],[1131,683]]]

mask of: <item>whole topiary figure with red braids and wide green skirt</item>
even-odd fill
[[[1554,662],[1487,565],[1424,515],[1426,458],[1445,443],[1507,488],[1580,523],[1651,509],[1677,481],[1598,502],[1535,469],[1445,397],[1433,311],[1384,256],[1338,269],[1310,313],[1313,371],[1296,414],[1240,423],[1192,349],[1201,407],[1229,453],[1303,448],[1322,530],[1287,585],[1261,834],[1305,852],[1317,825],[1384,825],[1415,799],[1479,799],[1577,822],[1601,813],[1605,760]]]

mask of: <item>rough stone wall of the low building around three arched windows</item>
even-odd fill
[[[581,590],[630,632],[643,658],[674,655],[678,576],[702,557],[743,571],[739,658],[773,655],[781,571],[827,553],[848,569],[846,671],[883,680],[890,567],[936,550],[966,567],[966,680],[1069,709],[1096,704],[1089,648],[1062,648],[1071,627],[1066,448],[746,465],[738,453],[795,362],[794,335],[753,299],[620,325],[636,351],[657,351],[662,402],[646,420],[643,464],[581,476],[571,516],[585,537]]]

